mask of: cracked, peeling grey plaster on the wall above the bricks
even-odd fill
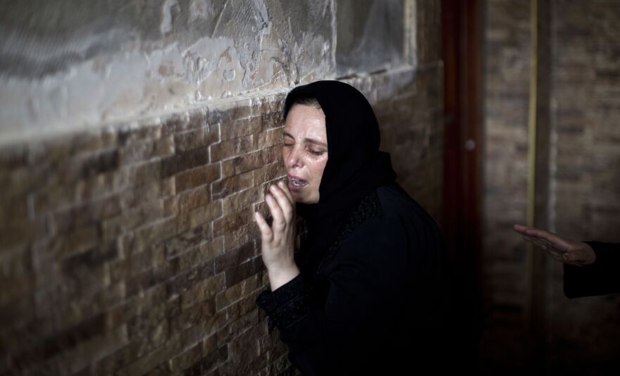
[[[403,3],[2,1],[0,143],[402,65]]]

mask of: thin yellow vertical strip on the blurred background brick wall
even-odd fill
[[[535,172],[536,172],[536,104],[538,88],[538,0],[530,0],[530,99],[528,115],[528,226],[534,226],[535,210]],[[527,281],[528,296],[526,302],[526,322],[532,329],[532,306],[534,289],[534,248],[527,243]]]

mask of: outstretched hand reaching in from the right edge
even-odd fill
[[[514,225],[514,230],[523,235],[523,239],[544,249],[552,258],[571,265],[588,265],[594,263],[596,253],[591,246],[583,242],[571,242],[562,237],[535,227]]]

